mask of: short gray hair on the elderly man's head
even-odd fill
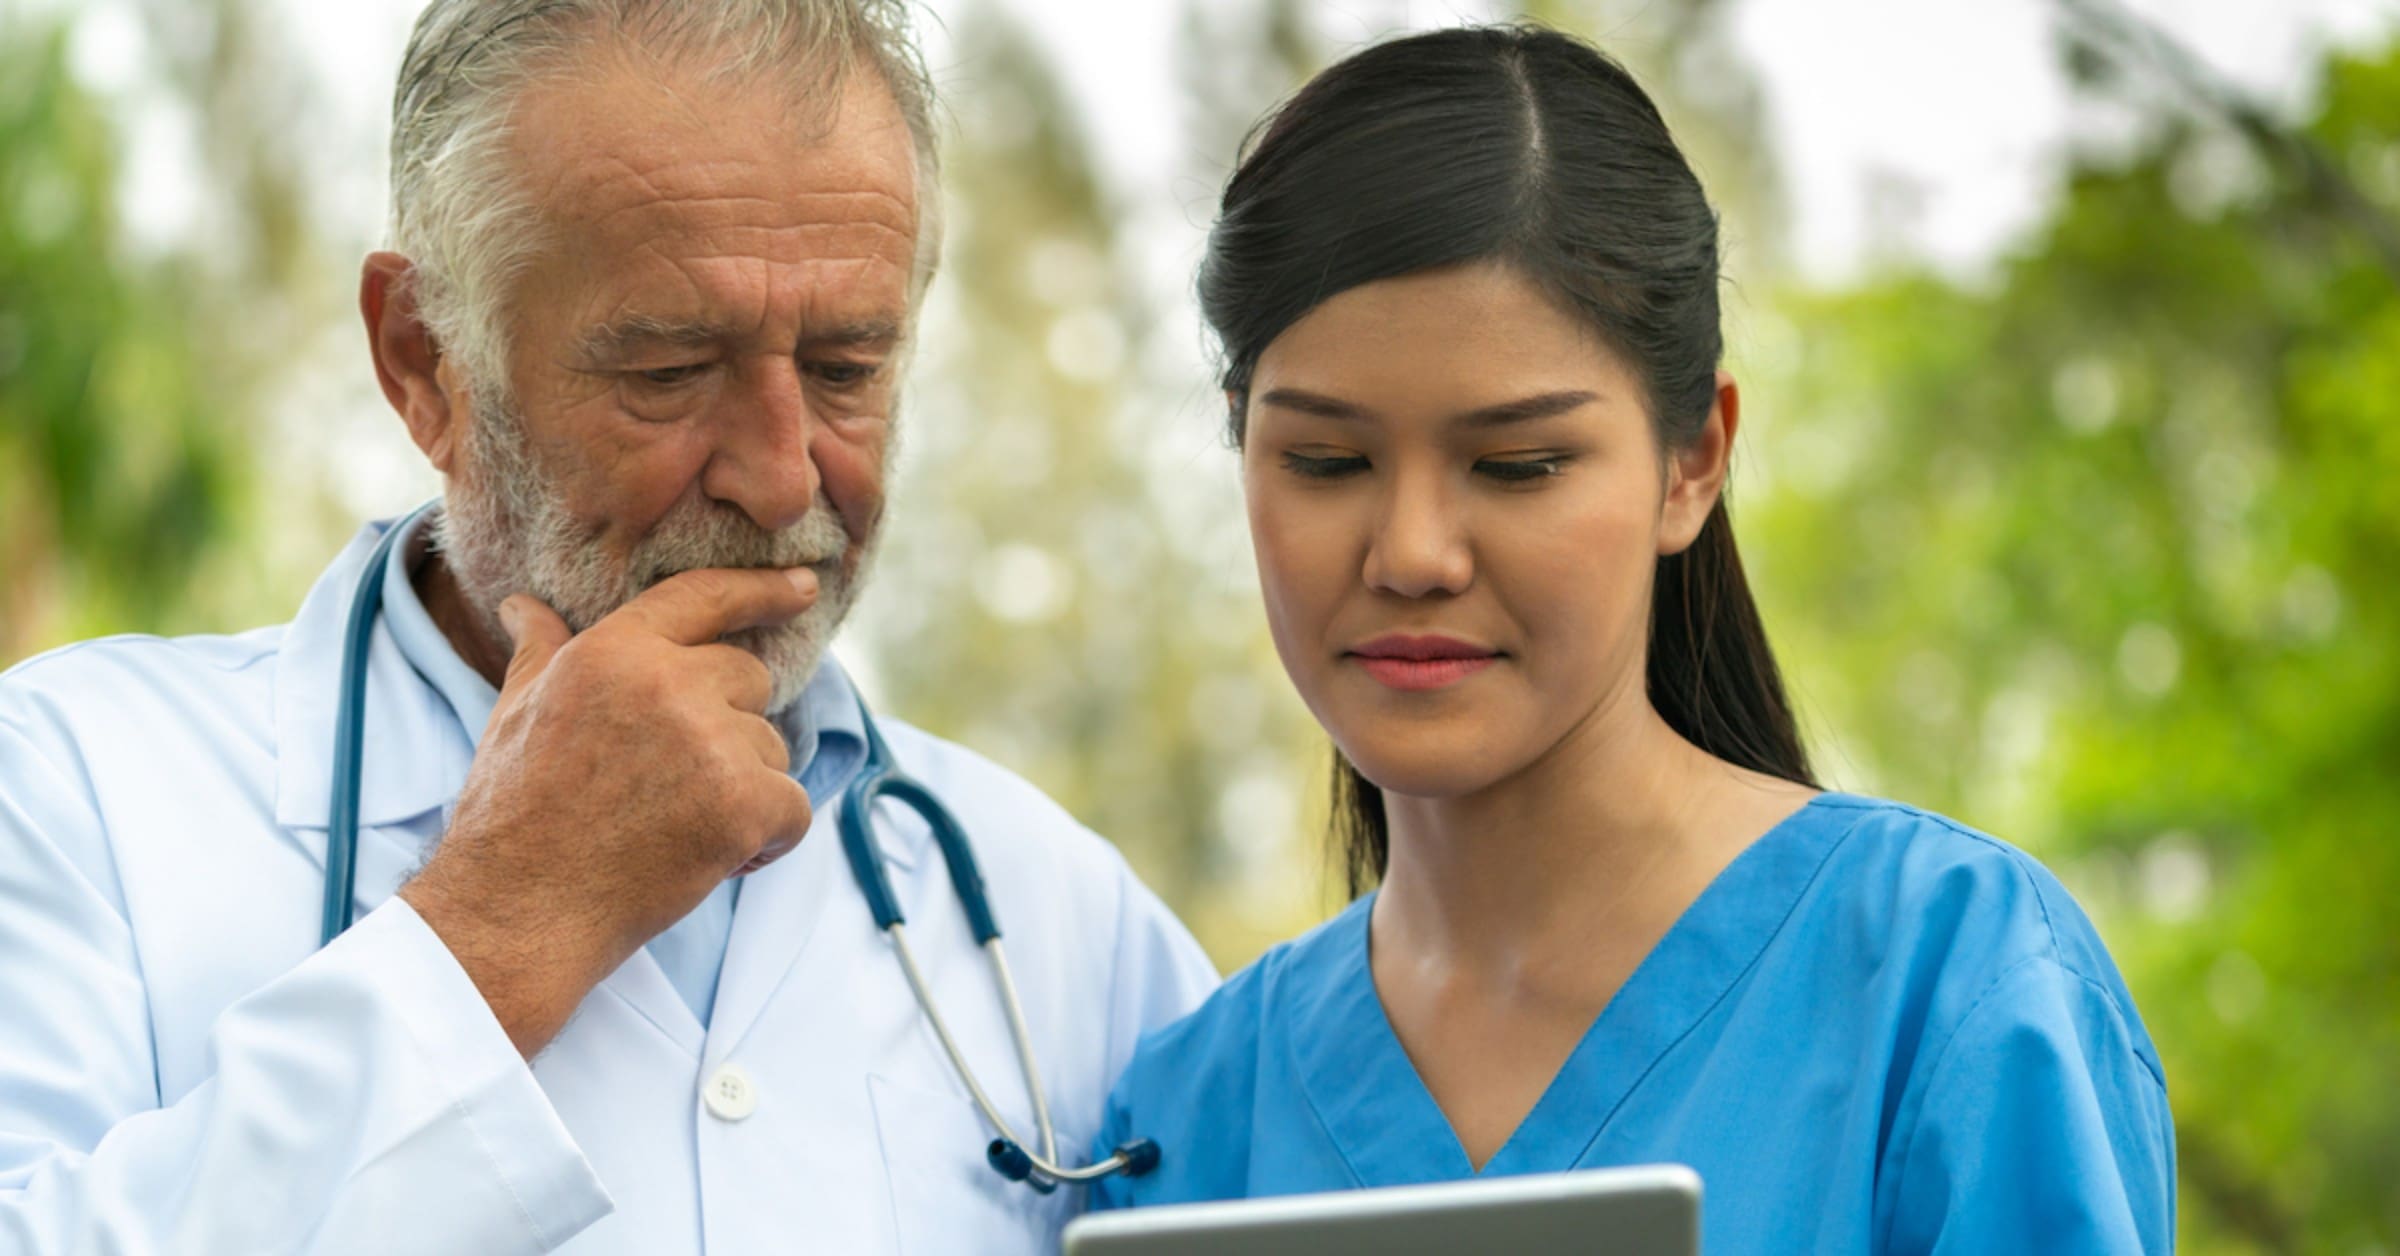
[[[545,70],[605,36],[713,79],[785,82],[838,98],[876,72],[917,156],[910,307],[941,257],[934,86],[905,0],[432,0],[408,36],[391,98],[391,247],[413,262],[418,315],[475,389],[506,394],[499,310],[538,233],[506,161],[509,115]]]

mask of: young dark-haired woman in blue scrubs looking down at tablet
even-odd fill
[[[1675,1160],[1711,1251],[2167,1251],[2158,1052],[2023,853],[1819,793],[1723,504],[1716,216],[1594,48],[1310,82],[1224,195],[1284,668],[1363,893],[1154,1035],[1142,1206]]]

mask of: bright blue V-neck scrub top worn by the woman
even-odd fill
[[[1361,898],[1152,1033],[1092,1208],[1474,1177],[1368,973]],[[1486,1174],[1682,1162],[1709,1251],[2172,1251],[2158,1049],[2021,850],[1819,795],[1642,961]]]

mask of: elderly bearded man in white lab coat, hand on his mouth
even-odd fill
[[[286,627],[0,682],[0,1254],[1054,1246],[1080,1189],[986,1162],[960,1066],[1082,1165],[1214,975],[1111,848],[823,660],[936,247],[895,10],[418,22],[360,305],[442,507]],[[857,807],[845,860],[881,768],[979,853],[1013,989],[919,814]]]

